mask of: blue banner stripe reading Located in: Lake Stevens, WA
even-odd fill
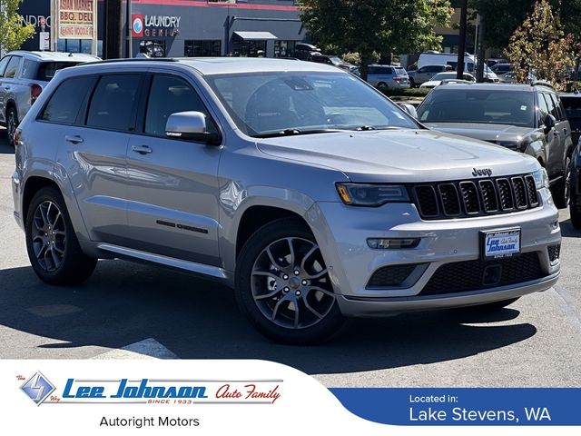
[[[581,425],[581,389],[331,388],[360,418],[394,425]]]

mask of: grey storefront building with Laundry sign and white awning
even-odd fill
[[[133,0],[132,56],[291,56],[306,38],[296,2],[292,0]],[[123,32],[126,30],[122,4]],[[24,0],[25,22],[38,34],[50,31],[50,0]],[[103,53],[103,1],[98,3],[98,52]],[[126,34],[124,34],[126,35]],[[90,41],[57,41],[59,51],[90,53]],[[38,35],[23,46],[38,50]],[[122,53],[125,54],[124,38]]]

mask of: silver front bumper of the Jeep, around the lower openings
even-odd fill
[[[559,244],[561,234],[549,191],[542,189],[539,194],[542,205],[536,209],[475,218],[422,221],[410,203],[379,208],[316,203],[307,217],[330,269],[333,288],[340,294],[341,312],[405,312],[506,300],[550,288],[556,282],[560,263],[549,259],[547,247]],[[440,266],[480,258],[482,231],[514,227],[521,229],[521,253],[538,254],[542,273],[537,280],[422,295]],[[374,250],[369,248],[368,238],[419,238],[420,243],[409,249]],[[403,264],[421,264],[412,282],[391,287],[368,285],[380,268]]]

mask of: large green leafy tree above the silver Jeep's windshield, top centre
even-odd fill
[[[436,25],[448,25],[448,0],[303,0],[302,22],[317,44],[358,53],[361,76],[379,54],[439,48]]]

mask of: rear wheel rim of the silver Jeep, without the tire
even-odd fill
[[[45,272],[54,272],[64,261],[66,233],[64,216],[58,206],[46,200],[34,211],[31,237],[34,256]]]

